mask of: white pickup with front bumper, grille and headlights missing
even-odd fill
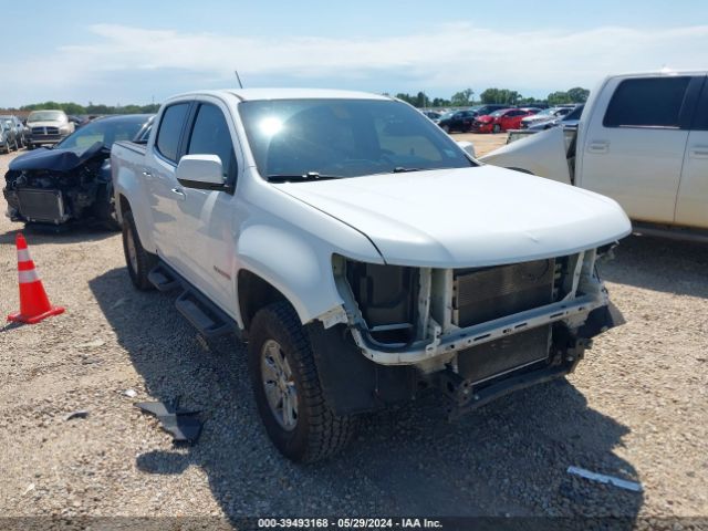
[[[426,388],[450,415],[571,372],[616,324],[595,261],[612,199],[479,165],[385,96],[173,97],[112,171],[131,279],[248,342],[259,413],[296,461]]]

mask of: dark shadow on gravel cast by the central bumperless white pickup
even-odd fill
[[[147,451],[137,457],[137,468],[174,475],[175,481],[188,467],[202,468],[231,520],[336,514],[634,519],[642,507],[641,493],[566,473],[574,465],[637,479],[632,465],[613,452],[628,428],[589,408],[565,381],[504,397],[457,424],[445,420],[445,403],[431,395],[367,417],[341,456],[293,465],[261,428],[242,345],[198,341],[173,298],[137,292],[123,268],[90,285],[146,392],[159,400],[180,396],[183,407],[204,412],[195,446]]]

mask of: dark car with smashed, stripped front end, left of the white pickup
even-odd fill
[[[2,192],[12,221],[61,226],[93,221],[119,230],[111,179],[111,146],[147,142],[154,115],[97,118],[52,148],[10,163]]]

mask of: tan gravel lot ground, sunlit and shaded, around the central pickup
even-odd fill
[[[459,137],[479,154],[502,140]],[[1,315],[18,310],[19,229],[0,218]],[[0,329],[1,514],[708,516],[706,247],[624,240],[602,272],[627,324],[568,382],[457,424],[430,396],[368,418],[339,458],[294,466],[261,428],[242,346],[206,345],[170,296],[135,291],[118,235],[27,236],[66,313]],[[174,447],[132,405],[176,396],[202,412],[194,447]],[[87,417],[65,419],[79,409]],[[570,465],[645,490],[572,478]]]

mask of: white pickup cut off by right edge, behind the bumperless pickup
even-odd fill
[[[556,127],[481,160],[612,197],[637,232],[708,241],[706,72],[608,76],[576,136]]]

